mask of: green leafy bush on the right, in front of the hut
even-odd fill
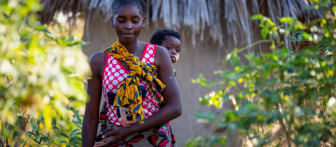
[[[253,146],[336,146],[336,1],[313,2],[311,8],[323,17],[310,23],[283,17],[282,26],[260,14],[252,16],[260,22],[264,40],[251,46],[268,42],[270,53],[248,53],[246,64],[238,53],[251,46],[235,49],[222,62],[233,69],[214,72],[221,79],[192,79],[202,86],[221,87],[201,97],[202,104],[220,109],[230,102],[235,109],[218,115],[197,112],[199,122],[212,124],[217,131],[190,138],[186,146],[221,146],[224,141],[215,140],[214,145],[213,138],[233,133],[240,135],[233,143],[246,139]]]

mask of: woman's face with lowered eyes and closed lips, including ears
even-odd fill
[[[122,5],[112,17],[112,27],[115,28],[119,40],[123,43],[137,41],[141,28],[145,25],[145,17],[134,5]]]

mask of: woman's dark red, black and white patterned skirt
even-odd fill
[[[102,113],[104,109],[102,108]],[[109,133],[113,130],[122,128],[115,124],[112,124],[107,117],[101,117],[102,113],[100,113],[99,123],[101,128],[104,129],[103,132]],[[103,126],[103,127],[102,127]],[[105,127],[106,126],[106,127]],[[119,143],[112,145],[112,147],[176,147],[175,137],[173,133],[172,127],[169,125],[169,129],[167,131],[167,137],[160,137],[157,132],[160,127],[152,128],[143,132],[134,133]],[[106,138],[105,140],[110,140],[112,137]]]

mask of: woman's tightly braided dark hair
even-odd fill
[[[112,3],[112,17],[116,14],[120,6],[132,4],[139,8],[141,14],[144,16],[146,11],[146,4],[144,0],[114,0]]]

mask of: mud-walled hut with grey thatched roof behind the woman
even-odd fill
[[[83,41],[90,44],[83,46],[83,52],[87,56],[90,57],[116,41],[117,36],[110,20],[113,0],[41,0],[41,2],[45,6],[45,9],[39,12],[42,23],[53,21],[53,16],[58,12],[73,14],[69,15],[70,23],[75,22],[77,17],[86,20]],[[177,71],[183,105],[182,116],[171,123],[178,146],[182,146],[190,137],[208,135],[211,131],[211,126],[197,123],[193,118],[196,110],[219,112],[216,108],[202,106],[198,100],[216,87],[194,85],[190,79],[203,73],[208,80],[215,80],[218,77],[213,75],[214,70],[230,68],[220,65],[219,61],[233,47],[242,47],[261,40],[257,22],[250,19],[252,15],[260,13],[276,23],[280,23],[278,17],[294,17],[301,21],[310,21],[320,16],[315,9],[307,8],[310,4],[307,0],[145,0],[145,2],[146,27],[139,36],[140,41],[149,42],[152,33],[159,28],[173,28],[182,34],[180,61],[173,65]],[[269,47],[267,44],[262,44],[261,49],[267,52]],[[259,52],[259,46],[248,50],[251,51]],[[229,104],[224,104],[222,109],[229,108]]]

